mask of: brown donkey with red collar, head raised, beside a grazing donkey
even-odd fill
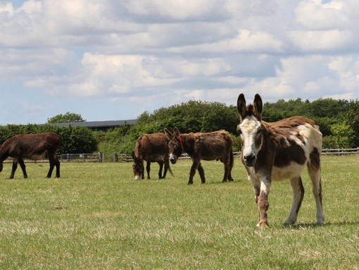
[[[172,164],[176,163],[183,152],[189,154],[189,157],[191,157],[193,161],[191,171],[189,171],[189,185],[193,184],[196,170],[199,171],[202,183],[206,183],[201,159],[219,159],[225,164],[225,176],[223,176],[222,181],[233,180],[231,175],[233,167],[233,141],[227,131],[219,130],[213,133],[180,134],[177,128],[173,130],[173,133],[170,133],[170,131],[165,128],[165,135],[168,137],[168,140],[170,140],[168,147],[170,147],[170,161]]]

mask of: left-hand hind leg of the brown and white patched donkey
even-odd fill
[[[289,181],[291,183],[291,189],[293,190],[293,200],[291,202],[291,209],[289,211],[289,215],[284,221],[284,224],[296,223],[298,212],[301,208],[301,204],[304,197],[304,187],[301,176],[291,178]]]

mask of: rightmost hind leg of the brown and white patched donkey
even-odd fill
[[[313,185],[313,195],[315,199],[315,205],[317,207],[316,221],[317,224],[324,224],[325,216],[323,214],[323,204],[322,204],[322,179],[320,168],[315,169],[311,166],[308,166],[308,173],[310,180],[312,180]]]

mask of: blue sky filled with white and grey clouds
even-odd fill
[[[0,125],[359,98],[358,0],[0,0],[0,25]]]

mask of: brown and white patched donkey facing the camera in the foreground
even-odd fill
[[[301,172],[308,168],[317,207],[317,223],[324,223],[322,211],[322,185],[320,154],[322,133],[315,122],[293,116],[281,121],[267,123],[261,120],[263,102],[259,94],[253,104],[246,106],[244,94],[239,94],[237,111],[241,133],[241,161],[246,167],[248,180],[253,185],[259,210],[257,226],[267,227],[268,195],[272,180],[289,179],[293,201],[284,224],[296,223],[304,196]]]

